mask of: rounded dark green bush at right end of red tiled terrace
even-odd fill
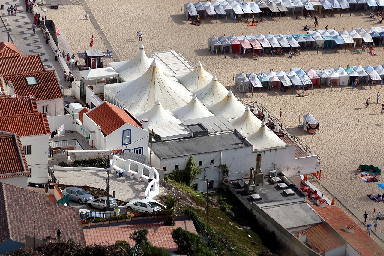
[[[197,234],[190,233],[182,228],[173,229],[171,234],[177,244],[177,251],[182,254],[193,254],[193,249],[202,244]]]

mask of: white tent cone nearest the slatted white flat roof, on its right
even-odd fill
[[[197,63],[194,70],[185,75],[176,76],[188,90],[196,90],[208,85],[213,76],[204,70],[201,62]]]

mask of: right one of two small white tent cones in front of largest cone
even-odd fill
[[[214,116],[201,102],[197,99],[196,95],[192,97],[189,103],[181,108],[171,110],[171,112],[179,120],[189,120],[194,118],[203,118],[208,116]]]

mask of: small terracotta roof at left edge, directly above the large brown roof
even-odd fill
[[[0,179],[29,175],[20,137],[15,133],[0,131]]]

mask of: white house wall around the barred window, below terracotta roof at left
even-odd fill
[[[48,181],[48,138],[48,134],[20,137],[22,146],[32,146],[31,154],[25,155],[28,168],[31,170],[28,182],[46,183]]]

